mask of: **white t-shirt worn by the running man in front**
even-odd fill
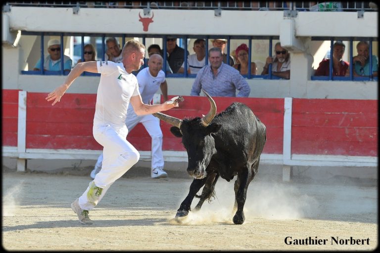
[[[127,73],[123,63],[97,61],[100,82],[97,88],[94,125],[109,124],[115,130],[125,127],[131,97],[140,94],[137,78]]]

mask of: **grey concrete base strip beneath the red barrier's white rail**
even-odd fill
[[[3,157],[2,169],[16,170],[15,158]],[[27,171],[46,172],[56,174],[73,174],[89,176],[94,169],[96,160],[28,160]],[[165,170],[169,177],[190,178],[186,172],[187,162],[165,162]],[[139,161],[129,171],[126,177],[150,177],[150,161]],[[89,177],[90,178],[90,177]],[[191,179],[191,178],[190,178]],[[283,165],[260,164],[259,172],[254,180],[283,181]],[[291,177],[288,182],[315,182],[315,183],[355,183],[365,182],[377,185],[377,167],[320,167],[320,166],[292,166]]]

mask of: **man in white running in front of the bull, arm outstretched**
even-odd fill
[[[100,73],[97,88],[93,135],[103,146],[103,166],[86,191],[71,203],[71,209],[82,224],[92,224],[89,210],[95,208],[108,188],[140,159],[140,154],[126,139],[125,126],[127,109],[132,104],[139,116],[169,110],[178,106],[177,102],[167,101],[159,105],[142,102],[139,84],[132,71],[138,70],[144,60],[145,46],[138,41],[125,43],[121,63],[111,61],[90,61],[78,63],[67,76],[64,84],[50,92],[46,100],[59,102],[69,86],[84,71]],[[129,116],[128,116],[129,117]]]

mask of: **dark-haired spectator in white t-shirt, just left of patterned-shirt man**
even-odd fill
[[[194,54],[188,56],[188,74],[197,74],[198,71],[206,65],[206,51],[204,49],[205,41],[203,39],[197,39],[194,42],[192,49]],[[182,64],[181,68],[178,70],[178,73],[185,72],[185,62]]]

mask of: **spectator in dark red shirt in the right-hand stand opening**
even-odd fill
[[[332,75],[344,77],[349,74],[347,72],[350,66],[348,62],[343,61],[343,53],[345,49],[343,42],[335,42],[332,46]],[[330,75],[330,59],[323,59],[318,69],[315,71],[314,76],[329,76]]]

